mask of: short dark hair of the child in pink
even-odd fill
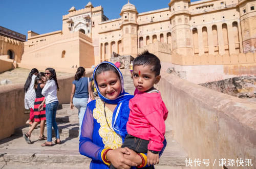
[[[152,66],[151,71],[155,72],[156,76],[160,75],[161,63],[155,54],[148,52],[147,50],[139,54],[133,61],[133,69],[135,66]]]

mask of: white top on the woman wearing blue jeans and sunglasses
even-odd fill
[[[57,98],[57,85],[54,79],[48,80],[44,89],[42,89],[42,95],[46,97],[46,104],[58,101]]]

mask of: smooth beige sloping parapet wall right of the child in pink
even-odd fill
[[[164,72],[161,76],[158,89],[169,110],[167,123],[192,161],[209,159],[207,168],[220,168],[221,158],[251,159],[253,166],[246,168],[254,168],[255,104]]]

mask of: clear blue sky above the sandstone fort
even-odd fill
[[[194,2],[197,0],[191,0]],[[84,8],[88,0],[0,0],[0,26],[28,35],[28,31],[38,34],[62,29],[62,15],[74,6],[76,10]],[[169,0],[130,0],[137,11],[147,12],[168,8]],[[109,19],[120,17],[122,6],[127,0],[91,0],[94,7],[102,6],[104,15]]]

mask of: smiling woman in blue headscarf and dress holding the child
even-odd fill
[[[146,155],[129,148],[120,148],[127,134],[129,100],[133,95],[124,91],[123,76],[112,63],[102,62],[93,74],[100,99],[87,105],[81,126],[79,152],[92,158],[90,168],[145,167]],[[166,143],[165,143],[166,145]]]

